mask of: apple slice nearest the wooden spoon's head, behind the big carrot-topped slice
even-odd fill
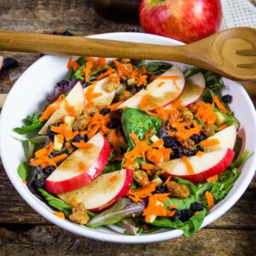
[[[178,97],[178,101],[182,106],[189,106],[201,98],[205,88],[205,76],[202,73],[196,73],[189,77],[189,79],[186,79],[183,93]],[[166,109],[170,108],[172,108],[172,104],[166,106]]]

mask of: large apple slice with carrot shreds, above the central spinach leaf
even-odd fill
[[[139,103],[145,95],[148,95],[148,102],[151,102],[156,107],[163,108],[171,104],[181,95],[184,84],[185,79],[183,72],[179,67],[174,66],[148,84],[146,90],[141,90],[136,95],[131,96],[131,98],[121,104],[119,108],[139,108]],[[154,110],[152,106],[144,106],[143,109]]]

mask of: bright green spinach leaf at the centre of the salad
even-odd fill
[[[129,148],[135,146],[130,137],[131,132],[134,132],[140,140],[143,140],[146,133],[150,131],[152,127],[154,127],[155,134],[161,126],[160,119],[137,108],[125,108],[122,113],[121,122]]]

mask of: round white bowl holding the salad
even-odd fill
[[[95,35],[93,38],[151,44],[182,44],[169,38],[131,32]],[[22,161],[26,160],[26,157],[21,143],[13,138],[15,136],[13,128],[20,126],[22,119],[24,119],[26,115],[37,112],[40,109],[42,110],[43,106],[41,105],[44,104],[46,96],[51,94],[55,84],[67,75],[67,60],[67,56],[45,55],[36,61],[20,76],[20,79],[18,79],[12,90],[10,90],[6,102],[4,103],[0,122],[0,152],[5,171],[10,181],[15,186],[15,189],[20,193],[23,199],[39,214],[44,216],[44,218],[47,218],[50,222],[60,226],[64,230],[71,231],[79,236],[119,243],[148,243],[165,241],[182,236],[183,231],[181,230],[166,229],[159,230],[154,234],[142,236],[125,236],[108,227],[90,230],[82,225],[73,224],[67,219],[56,217],[54,212],[44,204],[44,202],[32,195],[26,185],[21,182],[17,173],[17,167]],[[178,65],[182,68],[186,67],[183,64]],[[242,166],[241,176],[236,181],[233,189],[231,189],[230,194],[208,212],[202,227],[207,226],[207,224],[219,218],[238,201],[252,180],[256,167],[256,114],[253,103],[241,84],[229,79],[224,79],[224,84],[226,85],[225,92],[233,96],[230,108],[235,111],[237,119],[241,121],[240,135],[244,138],[242,148],[250,150],[252,155],[245,165]]]

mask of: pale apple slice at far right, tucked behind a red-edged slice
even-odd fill
[[[218,131],[214,136],[207,140],[218,139],[218,144],[204,147],[205,152],[217,151],[224,148],[233,149],[236,143],[236,126],[230,125],[222,131]]]

